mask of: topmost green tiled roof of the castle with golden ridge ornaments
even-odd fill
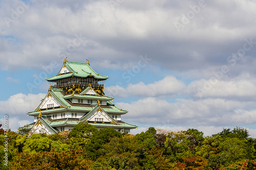
[[[103,76],[100,74],[97,74],[92,67],[89,65],[89,63],[81,63],[81,62],[72,62],[72,61],[66,61],[64,65],[71,71],[68,74],[63,74],[59,75],[57,74],[56,76],[47,78],[47,81],[54,81],[54,80],[59,80],[63,78],[69,78],[72,76],[75,77],[81,77],[81,78],[87,78],[87,77],[94,77],[95,79],[100,79],[100,80],[106,80],[109,77],[108,76]]]

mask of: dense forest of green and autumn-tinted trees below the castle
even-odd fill
[[[83,123],[54,135],[9,130],[8,152],[5,138],[0,129],[1,169],[256,169],[256,140],[240,127],[212,136],[153,127],[122,134]]]

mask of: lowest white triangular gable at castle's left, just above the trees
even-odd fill
[[[44,121],[44,119],[38,118],[35,125],[29,131],[28,135],[31,136],[34,133],[37,133],[37,134],[46,133],[47,135],[51,135],[51,134],[57,133],[57,131],[54,130],[49,125],[47,126],[47,123]]]

